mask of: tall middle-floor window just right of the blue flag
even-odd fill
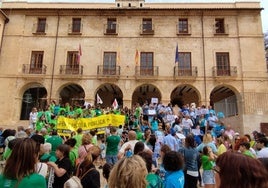
[[[191,52],[179,52],[178,75],[192,75]]]

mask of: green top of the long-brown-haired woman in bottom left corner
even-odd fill
[[[43,176],[33,173],[24,177],[19,183],[18,180],[7,179],[0,175],[0,187],[3,188],[46,188],[46,180]]]

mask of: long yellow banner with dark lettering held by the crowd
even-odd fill
[[[76,131],[78,128],[82,128],[84,132],[89,132],[92,129],[97,129],[97,134],[103,134],[105,128],[108,125],[116,126],[124,125],[125,116],[124,115],[101,115],[94,118],[79,118],[72,119],[60,116],[57,119],[57,130],[58,134],[61,136],[70,136],[72,131]]]

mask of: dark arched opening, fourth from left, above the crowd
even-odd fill
[[[143,105],[145,101],[150,104],[152,98],[157,98],[158,102],[161,101],[161,93],[159,89],[152,84],[143,84],[135,89],[132,95],[132,105],[137,102],[140,105]]]

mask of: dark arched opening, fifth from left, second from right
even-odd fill
[[[180,85],[173,89],[170,95],[171,104],[178,105],[180,108],[184,104],[195,103],[199,105],[199,98],[198,91],[191,85]]]

